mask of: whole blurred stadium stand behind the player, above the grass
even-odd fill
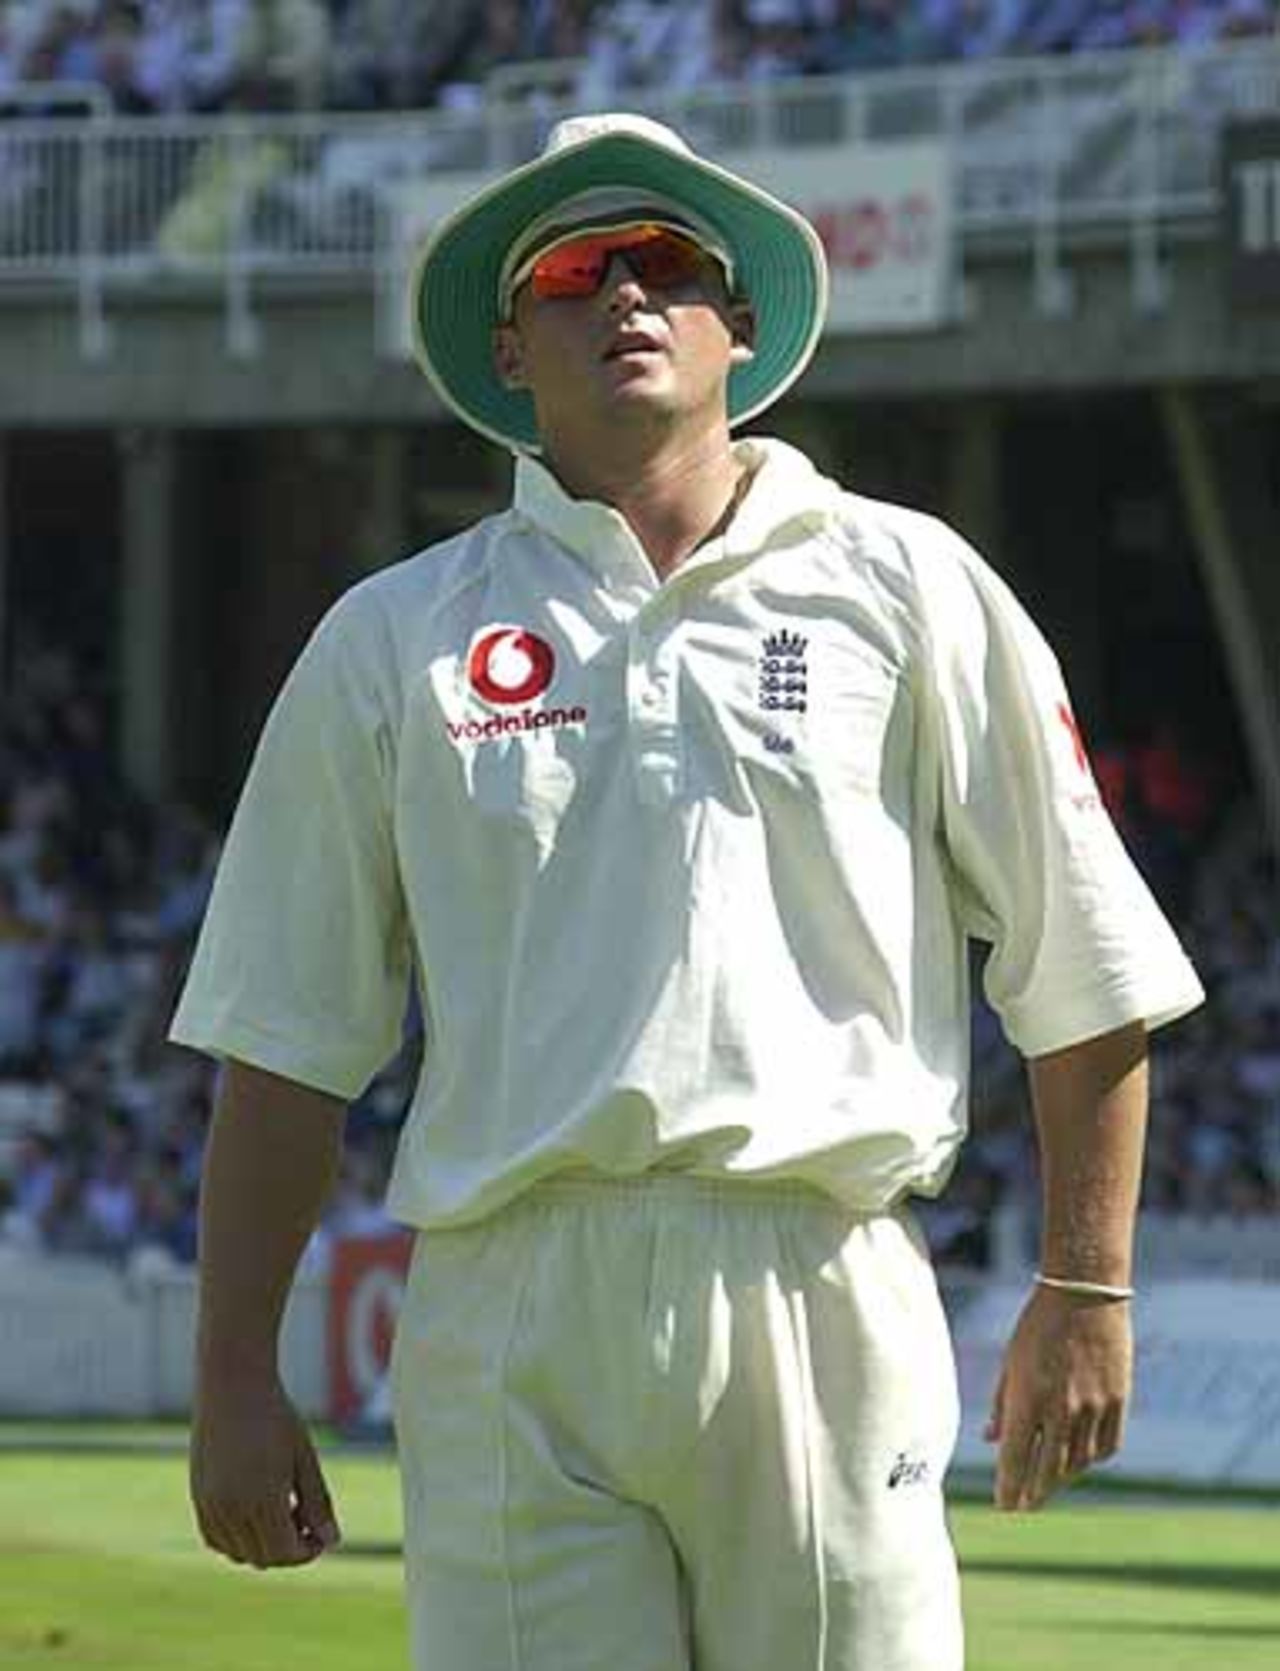
[[[1210,989],[1158,1038],[1140,1477],[1280,1486],[1273,0],[0,0],[0,1414],[182,1415],[212,1071],[164,1043],[271,697],[363,573],[505,503],[406,351],[421,232],[635,109],[819,226],[760,424],[956,523],[1064,660]],[[299,807],[299,819],[307,809]],[[418,1026],[297,1283],[304,1407],[384,1422]],[[979,1460],[1036,1245],[974,1014],[926,1208]]]

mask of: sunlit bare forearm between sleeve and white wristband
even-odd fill
[[[1146,1138],[1146,1031],[1106,1033],[1029,1063],[1039,1135],[1041,1270],[1128,1283]]]

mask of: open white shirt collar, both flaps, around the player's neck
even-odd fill
[[[777,545],[792,525],[800,523],[807,531],[822,520],[837,488],[814,470],[804,453],[764,436],[735,441],[734,453],[752,468],[754,480],[725,531],[725,556],[752,556]],[[571,498],[555,475],[528,453],[516,460],[511,503],[521,516],[598,573],[632,583],[645,578],[650,587],[657,585],[653,566],[627,518],[600,500]],[[690,563],[695,561],[697,556],[690,558]]]

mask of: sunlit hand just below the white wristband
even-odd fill
[[[1131,1307],[1038,1287],[1004,1352],[986,1425],[999,1445],[996,1507],[1038,1509],[1115,1455],[1131,1384]]]

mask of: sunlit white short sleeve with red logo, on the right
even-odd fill
[[[1203,989],[1103,805],[1058,660],[998,575],[941,525],[917,568],[939,839],[986,993],[1026,1056]]]

